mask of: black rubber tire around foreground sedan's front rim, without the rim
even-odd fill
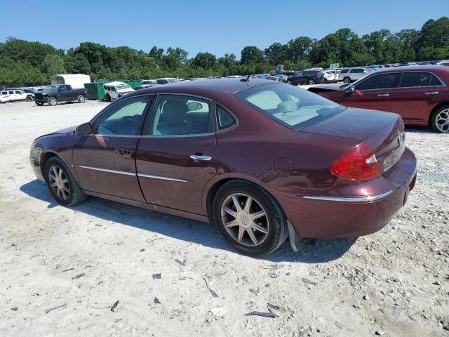
[[[63,180],[67,179],[66,187],[69,192],[66,199],[63,197],[62,193],[58,194],[58,187],[51,186],[52,178],[50,177],[50,173],[51,171],[53,172],[53,167],[62,169],[62,178]],[[48,190],[50,190],[53,198],[55,198],[55,200],[58,201],[58,203],[62,206],[76,205],[87,197],[79,187],[78,183],[76,183],[76,180],[74,180],[72,172],[70,172],[64,161],[62,161],[59,157],[51,157],[50,159],[48,159],[48,161],[46,161],[43,169],[43,177],[45,178]],[[54,184],[55,181],[52,180],[52,183]]]

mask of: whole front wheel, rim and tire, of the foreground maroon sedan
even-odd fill
[[[48,190],[63,206],[72,206],[86,199],[67,166],[58,157],[51,157],[45,164],[44,178]]]

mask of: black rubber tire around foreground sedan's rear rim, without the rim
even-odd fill
[[[246,194],[253,198],[257,201],[256,204],[260,204],[262,210],[267,214],[269,223],[268,232],[265,234],[266,237],[261,244],[255,246],[241,244],[234,239],[225,228],[225,224],[222,220],[222,206],[225,201],[235,193]],[[284,215],[281,206],[279,206],[274,197],[272,197],[266,190],[248,180],[231,180],[229,183],[225,183],[225,185],[220,187],[213,199],[212,220],[229,246],[250,256],[264,256],[272,253],[286,241],[288,236],[286,216]],[[253,220],[251,221],[253,223]],[[238,228],[239,226],[236,227]],[[252,229],[250,229],[250,231],[251,230]],[[244,235],[248,236],[248,232]]]

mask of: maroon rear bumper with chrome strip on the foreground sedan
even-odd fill
[[[284,211],[300,237],[360,237],[389,223],[415,187],[416,172],[415,155],[406,148],[398,163],[379,178],[353,186],[335,184],[326,194],[296,194],[289,200],[283,194],[280,202],[288,205]]]

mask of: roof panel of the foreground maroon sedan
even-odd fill
[[[244,78],[243,78],[244,79]],[[173,84],[166,84],[165,86],[153,86],[145,89],[147,93],[153,93],[158,91],[165,91],[170,88],[170,91],[176,91],[178,88],[180,92],[185,92],[187,88],[202,88],[209,90],[226,91],[228,93],[236,93],[247,88],[253,88],[254,86],[262,86],[264,84],[276,84],[279,82],[271,81],[269,79],[253,79],[249,81],[241,81],[241,79],[199,79],[196,81],[180,81]],[[175,89],[175,90],[173,90]]]

